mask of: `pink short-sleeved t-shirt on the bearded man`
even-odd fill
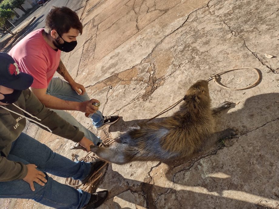
[[[61,51],[55,51],[45,41],[42,29],[26,35],[9,51],[21,72],[34,78],[33,88],[47,88],[58,68]]]

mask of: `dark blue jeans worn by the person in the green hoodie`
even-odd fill
[[[24,133],[12,143],[7,159],[35,164],[38,166],[37,169],[44,173],[79,180],[85,179],[91,168],[90,163],[73,162]],[[22,179],[0,182],[0,198],[32,199],[49,207],[67,209],[82,208],[89,202],[91,194],[88,192],[76,190],[53,180],[46,173],[45,175],[47,180],[45,186],[33,182],[35,191],[32,191],[29,183]]]

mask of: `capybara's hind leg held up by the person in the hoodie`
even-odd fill
[[[123,153],[119,151],[117,152],[114,148],[104,148],[91,145],[90,150],[105,161],[115,164],[127,163],[127,159],[123,156]]]

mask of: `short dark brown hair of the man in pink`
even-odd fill
[[[75,28],[82,34],[82,27],[79,16],[68,7],[52,6],[45,18],[45,32],[47,33],[55,29],[62,35],[69,32],[70,28]]]

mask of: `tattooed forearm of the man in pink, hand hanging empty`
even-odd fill
[[[85,88],[83,85],[76,83],[72,76],[67,71],[65,65],[63,64],[62,60],[60,59],[59,66],[56,70],[62,77],[71,85],[72,89],[75,90],[78,94],[83,95],[85,93]],[[81,90],[81,92],[80,92]]]

